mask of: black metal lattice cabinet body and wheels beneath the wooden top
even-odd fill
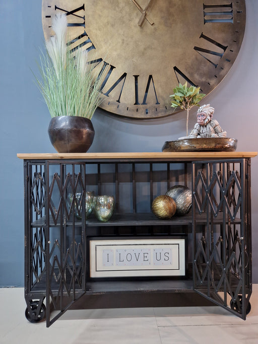
[[[240,170],[236,171],[235,166]],[[213,170],[215,173],[211,173]],[[170,295],[196,291],[245,319],[251,295],[250,159],[25,160],[24,183],[25,300],[29,321],[37,322],[46,315],[46,325],[50,326],[84,295],[129,297],[147,291]],[[183,217],[160,220],[151,212],[152,200],[174,184],[192,185],[193,210]],[[107,223],[94,217],[86,221],[85,202],[80,208],[75,194],[89,189],[96,194],[114,194],[116,212]],[[215,189],[219,189],[218,201]],[[236,210],[235,219],[229,214],[231,208]],[[217,240],[216,245],[218,228],[223,240]],[[87,277],[88,236],[178,235],[188,237],[187,279],[107,282]],[[226,253],[229,251],[235,259]],[[220,278],[214,277],[216,273]]]

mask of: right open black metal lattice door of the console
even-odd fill
[[[248,159],[192,163],[193,288],[243,319],[251,295],[249,168]]]

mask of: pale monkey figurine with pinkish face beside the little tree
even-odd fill
[[[212,119],[213,113],[214,108],[210,104],[200,106],[197,111],[197,123],[187,136],[187,139],[195,139],[196,137],[227,137],[227,132],[222,130],[219,122],[216,119]]]

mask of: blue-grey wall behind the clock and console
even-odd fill
[[[258,150],[258,1],[246,0],[246,30],[239,55],[226,78],[206,97],[215,118],[238,139],[238,151]],[[38,47],[43,46],[40,0],[1,0],[0,35],[0,286],[23,286],[23,161],[17,153],[54,153],[50,115],[33,82]],[[190,114],[189,128],[195,124]],[[89,152],[159,152],[165,141],[185,134],[183,113],[149,121],[128,120],[97,110]],[[258,283],[258,157],[252,161],[253,282]]]

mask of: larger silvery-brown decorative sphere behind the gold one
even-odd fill
[[[176,214],[185,215],[189,213],[192,204],[191,190],[184,185],[175,185],[167,190],[167,196],[173,198],[176,203]]]

